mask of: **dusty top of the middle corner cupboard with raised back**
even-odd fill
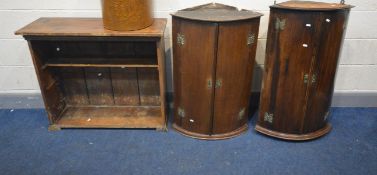
[[[172,16],[208,22],[240,21],[259,18],[263,14],[249,10],[238,10],[236,7],[218,3],[209,3],[201,6],[187,8],[173,13]]]

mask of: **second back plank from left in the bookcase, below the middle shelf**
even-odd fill
[[[91,105],[114,105],[109,68],[85,68]]]

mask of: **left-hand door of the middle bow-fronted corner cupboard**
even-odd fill
[[[210,134],[217,25],[173,18],[175,123]]]

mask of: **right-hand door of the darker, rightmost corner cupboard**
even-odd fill
[[[322,37],[312,72],[304,132],[325,127],[349,11],[322,12]]]

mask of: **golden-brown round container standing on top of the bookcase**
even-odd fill
[[[139,30],[153,23],[151,0],[103,0],[104,27],[109,30]]]

